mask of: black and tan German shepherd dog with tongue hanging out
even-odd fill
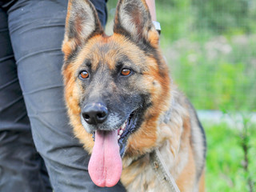
[[[206,138],[174,86],[145,0],[120,0],[107,36],[89,0],[70,0],[62,74],[74,134],[98,186],[165,191],[150,166],[158,149],[181,191],[204,191]]]

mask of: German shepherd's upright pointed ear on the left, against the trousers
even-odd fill
[[[82,46],[90,37],[103,34],[97,11],[89,0],[70,0],[66,14],[65,36],[62,51],[69,58],[78,46]]]

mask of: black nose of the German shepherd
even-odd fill
[[[107,115],[108,110],[106,106],[100,102],[88,104],[82,110],[82,117],[87,123],[92,125],[105,122]]]

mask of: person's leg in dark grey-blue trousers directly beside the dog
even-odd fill
[[[125,191],[99,188],[87,171],[88,154],[74,138],[62,97],[61,51],[67,1],[19,1],[9,10],[18,78],[35,146],[58,191]]]

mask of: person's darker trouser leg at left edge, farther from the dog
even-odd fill
[[[7,14],[0,7],[0,191],[50,192],[18,83]]]

